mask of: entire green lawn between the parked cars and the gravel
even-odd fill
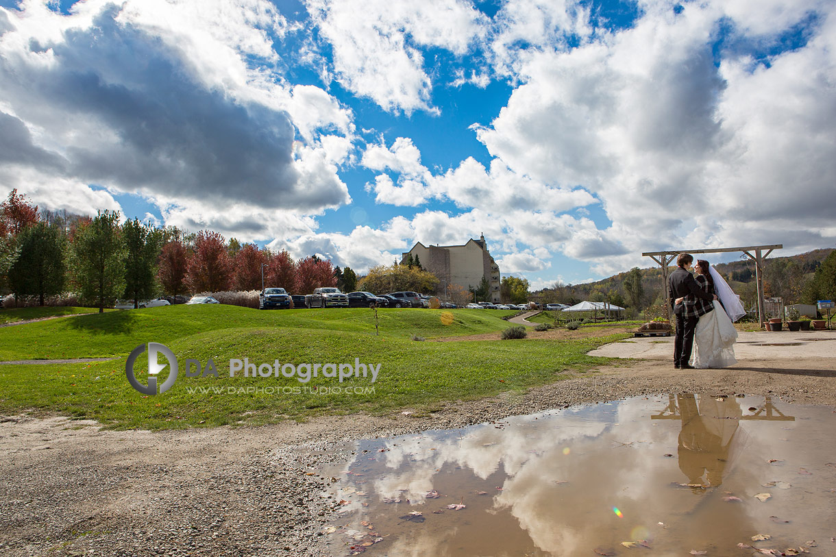
[[[442,313],[379,310],[379,336],[374,334],[369,309],[263,312],[208,305],[130,310],[9,327],[0,330],[3,360],[35,355],[118,355],[120,359],[73,365],[0,365],[0,413],[58,411],[119,429],[158,429],[261,424],[357,411],[385,413],[405,406],[431,411],[440,401],[523,391],[558,381],[569,370],[587,370],[608,361],[586,352],[624,338],[409,340],[412,334],[426,338],[469,335],[509,326],[494,311],[455,310],[450,312],[454,318],[451,324],[441,322]],[[175,385],[162,395],[143,396],[125,378],[125,355],[148,341],[171,348],[181,366]],[[339,365],[359,359],[367,365],[380,364],[380,373],[375,383],[370,377],[352,377],[340,383],[321,375],[303,383],[297,376],[244,377],[241,371],[230,377],[229,360],[244,357],[257,365],[276,360],[280,365]],[[201,365],[211,358],[218,377],[186,377],[183,368],[189,358]],[[146,370],[147,360],[140,356],[135,369]],[[166,367],[158,380],[165,381],[167,373]],[[140,375],[140,381],[145,383],[145,377]],[[308,391],[282,391],[303,387]],[[323,394],[331,387],[374,387],[374,392]]]

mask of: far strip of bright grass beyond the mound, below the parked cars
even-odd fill
[[[379,309],[380,335],[427,339],[492,333],[507,328],[509,311],[485,309]],[[452,316],[452,321],[442,319]],[[174,305],[79,315],[0,329],[0,360],[92,358],[130,354],[148,341],[164,345],[185,337],[231,328],[319,329],[375,335],[370,309],[280,309],[232,305]]]

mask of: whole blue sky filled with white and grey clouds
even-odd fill
[[[360,273],[484,233],[534,288],[801,253],[834,53],[813,0],[0,0],[0,184]]]

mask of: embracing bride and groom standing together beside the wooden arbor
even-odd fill
[[[695,278],[691,274],[693,262],[690,253],[680,253],[676,258],[678,268],[668,278],[670,305],[676,316],[674,367],[705,369],[734,365],[737,330],[732,321],[740,319],[746,311],[715,268],[698,259],[694,266]]]

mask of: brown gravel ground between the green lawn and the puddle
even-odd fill
[[[320,496],[330,480],[319,470],[343,462],[356,439],[668,392],[836,406],[836,361],[752,358],[725,370],[674,370],[661,360],[615,360],[432,413],[265,427],[113,432],[58,416],[8,416],[0,422],[0,554],[327,554],[318,533],[337,503]]]

